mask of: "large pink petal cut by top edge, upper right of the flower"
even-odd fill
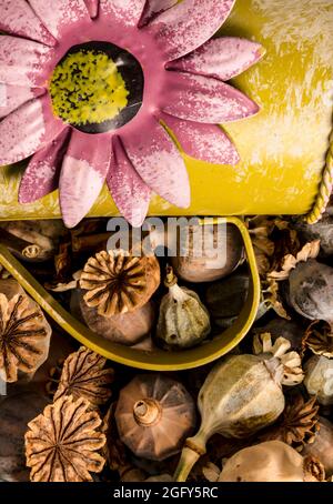
[[[169,60],[206,42],[224,23],[235,0],[184,0],[155,18],[154,31]]]

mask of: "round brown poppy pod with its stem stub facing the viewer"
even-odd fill
[[[162,461],[178,453],[194,429],[195,405],[181,383],[144,374],[122,389],[115,421],[121,441],[137,456]]]

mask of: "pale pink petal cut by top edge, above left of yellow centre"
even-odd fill
[[[90,21],[83,0],[29,0],[29,3],[57,40],[67,27]]]

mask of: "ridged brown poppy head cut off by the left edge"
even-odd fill
[[[33,374],[47,360],[52,332],[39,305],[17,291],[13,296],[0,292],[0,377],[9,383],[19,372]]]

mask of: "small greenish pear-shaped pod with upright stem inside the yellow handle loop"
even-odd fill
[[[160,305],[157,336],[174,349],[199,344],[211,331],[208,310],[194,291],[178,285],[170,266],[164,283],[169,292]]]

